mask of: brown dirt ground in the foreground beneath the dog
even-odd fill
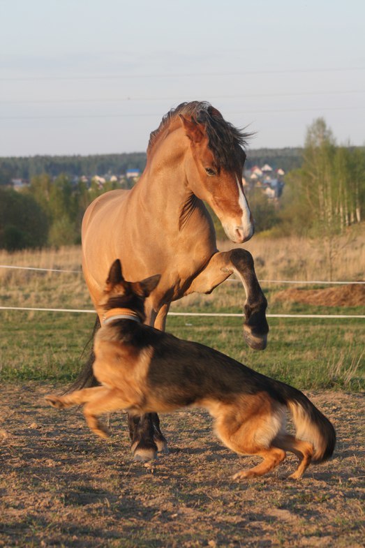
[[[60,389],[60,387],[59,387]],[[135,463],[126,420],[112,438],[89,433],[80,410],[43,402],[50,385],[3,386],[0,401],[1,547],[363,546],[364,397],[309,394],[334,422],[334,458],[299,482],[277,471],[237,482],[258,460],[237,457],[200,410],[162,417],[170,454]]]

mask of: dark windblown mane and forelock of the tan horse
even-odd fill
[[[218,168],[228,171],[235,170],[237,160],[241,159],[242,148],[246,148],[251,133],[234,127],[225,121],[221,112],[212,107],[207,101],[191,101],[181,103],[177,108],[172,108],[161,120],[161,124],[149,136],[147,155],[156,143],[163,130],[170,125],[179,114],[189,116],[198,124],[204,124],[207,132],[208,147],[214,154]]]

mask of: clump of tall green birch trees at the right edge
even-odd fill
[[[364,162],[364,150],[357,149],[354,154],[350,147],[337,147],[325,120],[318,118],[308,128],[301,169],[288,177],[289,188],[296,189],[292,205],[297,206],[296,211],[301,205],[308,233],[321,242],[331,280],[340,237],[348,226],[361,220]],[[288,207],[282,218],[285,213],[288,215]]]

